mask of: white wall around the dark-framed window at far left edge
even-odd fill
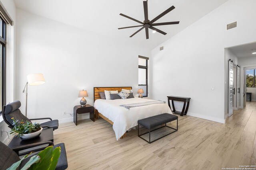
[[[13,0],[0,0],[0,2],[14,21],[14,25],[7,25],[6,29],[6,103],[8,104],[14,100],[16,6]],[[6,123],[3,121],[2,116],[0,116],[0,131],[1,130],[6,132],[10,131],[10,128],[8,128]],[[0,134],[0,141],[3,143],[8,143],[9,141],[6,132],[4,132],[2,136]]]

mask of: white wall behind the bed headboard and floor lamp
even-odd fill
[[[62,114],[73,114],[82,89],[92,106],[93,87],[132,86],[138,91],[138,55],[150,57],[149,50],[22,10],[17,10],[17,21],[16,100],[21,101],[23,112],[26,76],[43,73],[46,80],[28,86],[28,117],[73,121]]]

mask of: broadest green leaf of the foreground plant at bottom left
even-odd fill
[[[40,156],[40,161],[36,164],[33,164],[29,169],[31,170],[48,170],[52,164],[52,152],[53,147],[47,147],[46,149],[42,150],[38,153]]]

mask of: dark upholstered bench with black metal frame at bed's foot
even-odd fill
[[[145,119],[140,119],[140,120],[138,120],[138,137],[140,137],[141,139],[143,139],[144,141],[146,141],[148,143],[152,143],[154,141],[157,141],[158,139],[166,137],[167,135],[170,135],[171,133],[168,133],[167,135],[164,135],[164,136],[162,136],[158,139],[155,139],[154,141],[150,141],[150,132],[155,131],[157,129],[160,129],[162,127],[169,127],[169,126],[166,126],[166,123],[169,123],[169,122],[174,121],[174,120],[177,120],[177,129],[174,129],[174,128],[170,127],[171,129],[175,130],[175,131],[172,131],[171,133],[174,133],[174,132],[178,131],[178,116],[176,116],[176,115],[172,115],[172,114],[169,114],[169,113],[163,113],[163,114],[148,117],[148,118],[145,118]],[[159,127],[157,129],[154,129],[154,130],[151,131],[152,128],[157,127],[159,125],[163,125],[163,124],[165,124],[165,126]],[[149,131],[140,135],[140,125],[148,128]],[[146,139],[141,137],[142,135],[145,135],[147,133],[149,133],[149,141],[147,141]]]

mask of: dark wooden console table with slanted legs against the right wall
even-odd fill
[[[173,108],[173,110],[172,110],[173,113],[179,114],[180,116],[183,116],[183,115],[186,115],[186,114],[187,114],[187,112],[188,112],[188,106],[189,106],[189,100],[190,100],[191,98],[178,97],[178,96],[167,96],[167,98],[168,98],[168,105],[169,105],[170,109]],[[170,100],[172,100],[172,107],[170,106]],[[183,108],[182,108],[182,111],[181,111],[181,112],[175,110],[173,101],[184,102]],[[186,107],[186,102],[188,102],[187,107]]]

